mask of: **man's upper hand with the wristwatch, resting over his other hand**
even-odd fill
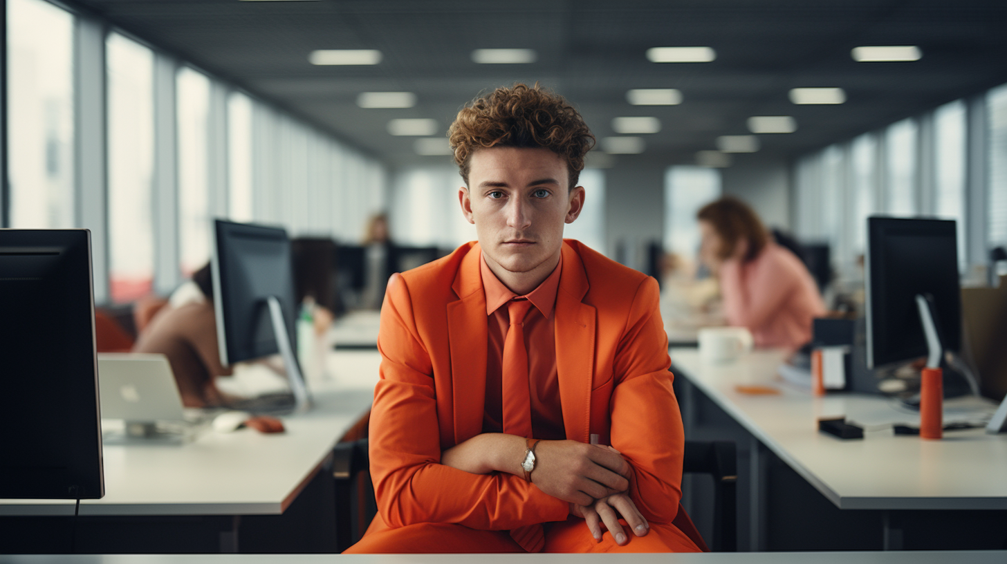
[[[542,441],[535,449],[532,482],[570,504],[591,506],[595,500],[625,491],[632,467],[613,448],[572,440]]]

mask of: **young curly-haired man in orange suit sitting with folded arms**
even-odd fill
[[[478,242],[388,284],[379,515],[347,552],[705,549],[679,505],[658,284],[563,240],[585,203],[586,124],[517,85],[462,109],[449,136]]]

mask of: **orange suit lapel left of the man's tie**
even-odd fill
[[[480,256],[479,246],[475,245],[462,259],[451,286],[459,299],[447,304],[455,444],[482,431],[488,331]]]

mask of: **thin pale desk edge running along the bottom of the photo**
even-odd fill
[[[513,554],[191,554],[0,556],[0,564],[513,564]],[[719,552],[699,554],[523,554],[525,564],[1002,564],[1007,551]]]

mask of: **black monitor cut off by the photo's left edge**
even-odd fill
[[[0,499],[105,495],[91,233],[0,230]]]

